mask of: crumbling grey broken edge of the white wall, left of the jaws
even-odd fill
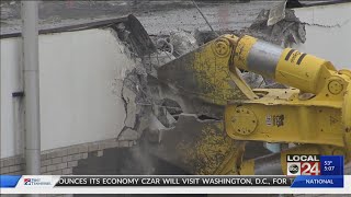
[[[152,55],[152,57],[156,57]],[[159,58],[158,56],[156,57]],[[155,58],[136,59],[138,65],[123,80],[122,99],[125,102],[125,128],[141,135],[149,130],[160,131],[170,127],[174,119],[169,118],[168,112],[162,106],[162,99],[158,95],[158,88],[150,85],[148,74],[155,74],[155,66],[168,59],[166,57],[155,63]],[[169,58],[171,60],[172,58]]]

